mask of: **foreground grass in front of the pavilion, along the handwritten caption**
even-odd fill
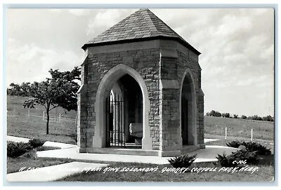
[[[185,172],[175,173],[165,169],[173,167],[167,165],[145,164],[145,163],[117,163],[105,161],[80,161],[88,163],[109,163],[111,168],[119,168],[117,172],[103,172],[105,168],[96,172],[82,172],[70,175],[57,182],[270,182],[274,177],[274,155],[261,156],[262,160],[256,165],[255,172],[238,171],[226,172],[215,163],[192,163],[192,168],[216,168],[212,172]],[[18,172],[20,168],[41,168],[50,165],[57,165],[76,161],[66,158],[37,158],[20,157],[7,159],[7,173]],[[150,172],[121,172],[122,168],[157,168]]]

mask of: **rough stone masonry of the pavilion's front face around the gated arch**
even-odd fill
[[[92,137],[96,125],[95,102],[96,93],[103,76],[119,64],[128,65],[135,69],[145,81],[150,100],[149,125],[150,135],[153,141],[153,149],[159,149],[159,48],[144,50],[128,50],[115,53],[92,54],[88,53],[88,62],[85,63],[85,75],[87,76],[86,93],[81,95],[80,101],[89,97],[88,102],[81,102],[81,108],[86,109],[83,127],[80,124],[81,138],[79,143],[92,147]],[[88,117],[86,117],[86,115]],[[88,128],[86,128],[88,127]]]

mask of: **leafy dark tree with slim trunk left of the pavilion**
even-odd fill
[[[50,111],[56,107],[63,107],[67,111],[77,111],[77,91],[81,69],[74,67],[71,72],[59,72],[58,69],[49,71],[51,79],[40,83],[34,82],[30,85],[30,98],[23,103],[23,107],[34,108],[36,104],[41,104],[46,109],[47,122],[46,134],[50,120]]]

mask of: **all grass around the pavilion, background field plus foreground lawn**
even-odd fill
[[[49,135],[46,135],[46,118],[42,117],[44,107],[37,106],[36,109],[24,109],[22,103],[26,97],[8,96],[7,104],[7,135],[16,137],[39,138],[54,142],[64,142],[77,144],[75,142],[77,125],[75,123],[75,111],[65,112],[58,108],[51,111],[51,120],[49,126]],[[30,114],[28,114],[30,113]],[[58,115],[62,119],[58,120]],[[249,140],[251,138],[251,128],[254,130],[254,140],[269,147],[274,154],[274,145],[266,142],[274,140],[274,123],[265,121],[249,121],[234,118],[217,118],[205,116],[204,118],[205,137],[221,139],[208,144],[226,146],[226,142],[232,140]],[[222,140],[225,133],[225,127],[228,128],[228,140]],[[220,135],[220,136],[217,136]],[[261,140],[260,140],[261,139]],[[37,151],[58,149],[53,147],[41,147]],[[274,176],[274,155],[261,157],[263,160],[254,167],[259,170],[251,172],[218,172],[220,169],[215,163],[194,163],[193,167],[211,167],[217,168],[216,172],[162,172],[166,168],[172,168],[171,165],[152,165],[143,163],[115,163],[111,162],[112,168],[156,168],[155,172],[88,172],[77,175],[71,175],[58,181],[69,182],[270,182]],[[41,168],[49,165],[57,165],[75,161],[65,158],[36,158],[20,157],[7,158],[7,172],[18,172],[20,168]],[[94,163],[105,163],[100,161],[85,161]]]

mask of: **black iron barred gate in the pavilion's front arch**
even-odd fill
[[[110,93],[105,100],[106,146],[125,147],[125,101],[119,95]]]

